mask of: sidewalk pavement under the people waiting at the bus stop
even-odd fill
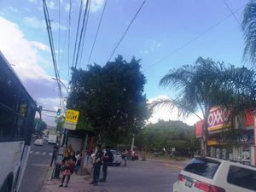
[[[39,192],[101,192],[98,187],[92,186],[89,176],[77,176],[73,174],[68,187],[59,187],[61,179],[45,180]]]

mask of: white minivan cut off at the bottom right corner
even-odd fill
[[[215,158],[195,158],[184,167],[173,192],[255,192],[256,168]]]

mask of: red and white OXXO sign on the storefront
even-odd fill
[[[208,116],[208,131],[216,131],[229,126],[230,111],[220,107],[211,108]]]

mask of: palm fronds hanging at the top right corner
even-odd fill
[[[250,0],[243,12],[241,29],[244,32],[243,59],[256,63],[256,1]]]

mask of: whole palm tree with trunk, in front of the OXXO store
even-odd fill
[[[159,99],[152,103],[151,108],[176,107],[179,116],[194,113],[203,121],[201,156],[206,156],[210,109],[213,106],[232,106],[234,117],[246,108],[252,108],[255,106],[255,79],[255,72],[246,67],[235,68],[199,57],[195,65],[171,70],[160,79],[160,86],[175,89],[177,96],[174,99]],[[203,114],[202,118],[197,114],[199,111]]]

